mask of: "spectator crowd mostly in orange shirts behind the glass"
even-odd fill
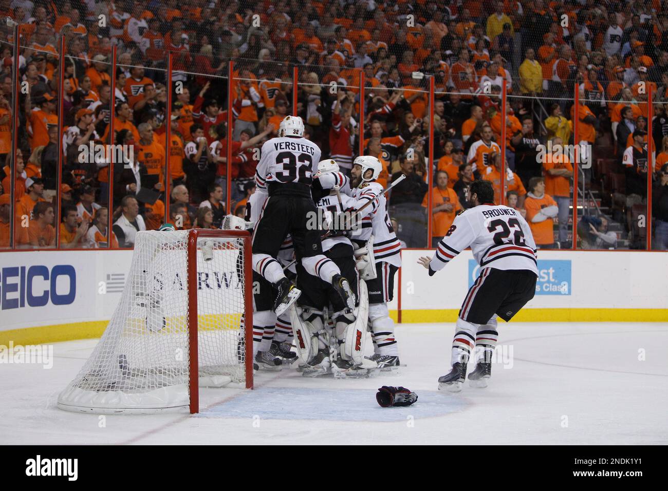
[[[433,247],[478,179],[541,248],[570,247],[573,222],[581,247],[615,247],[613,222],[643,247],[649,173],[668,249],[665,1],[0,0],[0,18],[0,248],[12,217],[18,249],[219,228],[244,216],[259,149],[297,114],[343,172],[363,149],[384,186],[407,176],[389,197],[406,247]],[[564,146],[596,163],[582,217]]]

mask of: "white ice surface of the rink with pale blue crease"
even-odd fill
[[[51,369],[0,363],[1,444],[667,444],[668,323],[500,323],[486,389],[436,390],[454,324],[397,326],[397,375],[260,372],[255,390],[201,389],[201,413],[74,414],[58,393],[96,340],[56,343]],[[370,343],[369,343],[370,345]],[[504,368],[504,364],[507,368]],[[381,408],[381,385],[420,397]]]

